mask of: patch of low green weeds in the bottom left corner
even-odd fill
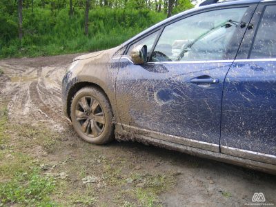
[[[17,174],[6,183],[0,183],[0,206],[23,204],[26,206],[55,206],[50,193],[55,188],[53,179],[42,177],[39,170]]]

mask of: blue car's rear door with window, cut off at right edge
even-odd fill
[[[221,152],[276,164],[276,4],[260,3],[224,83]]]

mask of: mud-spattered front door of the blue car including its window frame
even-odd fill
[[[130,45],[116,82],[124,129],[218,152],[224,79],[253,7],[192,14]],[[135,65],[128,54],[139,44],[148,62]]]

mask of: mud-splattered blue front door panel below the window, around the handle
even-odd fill
[[[121,59],[117,105],[123,124],[218,144],[221,92],[231,63],[135,66]],[[218,81],[191,83],[196,77]]]

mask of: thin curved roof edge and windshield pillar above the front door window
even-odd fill
[[[150,32],[151,30],[154,30],[155,28],[163,25],[164,23],[167,23],[169,21],[172,21],[173,19],[177,19],[184,14],[189,14],[191,12],[197,12],[200,10],[205,10],[208,8],[217,8],[217,7],[222,7],[222,6],[235,6],[235,5],[242,5],[242,4],[249,4],[249,3],[260,3],[260,2],[266,2],[266,1],[276,1],[276,0],[228,0],[228,1],[223,1],[223,2],[218,2],[218,3],[212,3],[208,4],[206,6],[199,6],[197,8],[192,8],[190,10],[186,10],[184,12],[180,12],[179,14],[175,14],[174,16],[164,19],[163,21],[160,21],[159,23],[155,24],[154,26],[151,26],[150,28],[144,30],[143,32],[135,35],[135,37],[132,37],[131,39],[128,39],[128,41],[124,42],[122,46],[126,46],[126,44],[130,43],[131,41],[134,41],[135,39],[141,37],[142,35]]]

